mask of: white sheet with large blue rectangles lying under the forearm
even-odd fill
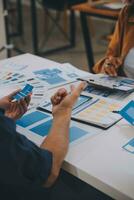
[[[17,121],[17,126],[19,133],[28,136],[29,139],[39,145],[50,131],[52,116],[48,113],[33,109]],[[100,132],[94,131],[94,133],[89,133],[85,125],[80,127],[77,122],[71,122],[70,143],[98,133]]]

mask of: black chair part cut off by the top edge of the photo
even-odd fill
[[[64,8],[85,2],[87,2],[87,0],[42,0],[46,8],[54,10],[64,10]]]

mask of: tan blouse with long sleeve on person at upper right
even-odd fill
[[[128,18],[128,6],[125,6],[116,23],[115,32],[109,44],[106,56],[93,67],[95,73],[103,72],[105,60],[111,57],[112,64],[123,71],[121,66],[129,50],[134,47],[134,15]]]

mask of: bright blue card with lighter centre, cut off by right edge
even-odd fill
[[[130,124],[134,125],[134,101],[130,101],[119,114]]]

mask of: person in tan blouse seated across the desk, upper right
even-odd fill
[[[106,56],[97,62],[93,71],[134,78],[134,0],[122,2],[127,5],[119,14]]]

